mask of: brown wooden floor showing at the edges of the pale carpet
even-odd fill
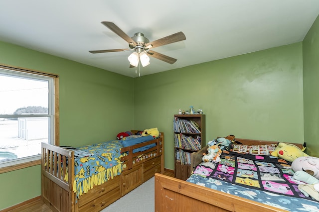
[[[175,177],[173,170],[166,170],[165,169],[164,173],[162,173],[162,174],[170,176],[170,177]],[[51,209],[49,209],[49,207],[47,205],[45,205],[43,203],[43,201],[40,199],[40,200],[36,200],[32,203],[29,203],[27,205],[24,205],[22,207],[11,210],[9,212],[53,212],[53,211]]]

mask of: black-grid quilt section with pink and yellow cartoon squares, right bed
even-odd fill
[[[196,176],[206,179],[202,181],[204,184],[210,181],[217,185],[221,181],[225,181],[227,185],[244,187],[238,189],[240,187],[236,186],[233,192],[236,191],[239,194],[242,191],[251,197],[255,195],[253,199],[262,199],[260,195],[257,198],[256,193],[258,192],[258,194],[268,194],[265,197],[266,200],[269,199],[268,196],[274,196],[278,199],[278,196],[281,195],[298,198],[298,201],[302,201],[301,199],[312,200],[299,191],[298,185],[304,183],[293,179],[294,171],[291,169],[290,162],[277,157],[224,152],[220,163],[201,163],[194,169],[193,175],[187,181],[195,182]],[[283,199],[289,200],[289,198]],[[318,202],[314,202],[314,204],[319,205]]]

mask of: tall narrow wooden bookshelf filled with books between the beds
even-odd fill
[[[205,115],[174,115],[175,178],[186,180],[191,172],[191,154],[205,146]]]

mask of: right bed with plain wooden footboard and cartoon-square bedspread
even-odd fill
[[[236,141],[250,147],[263,146],[266,150],[278,143]],[[191,155],[194,171],[186,181],[155,174],[156,212],[319,211],[319,203],[297,189],[301,182],[292,178],[293,172],[286,161],[267,154],[223,152],[220,163],[203,163],[201,159],[206,152],[207,146]]]

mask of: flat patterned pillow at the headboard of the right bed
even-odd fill
[[[264,144],[264,145],[239,145],[234,144],[234,147],[231,151],[238,152],[242,154],[252,154],[252,155],[270,155],[275,151],[276,144]]]

